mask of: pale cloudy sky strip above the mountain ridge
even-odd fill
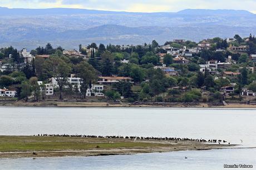
[[[176,12],[182,9],[244,9],[256,13],[256,0],[0,0],[8,8],[86,8],[129,12]]]

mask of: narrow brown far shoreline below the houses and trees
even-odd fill
[[[256,104],[232,104],[210,106],[209,103],[164,103],[164,104],[130,104],[109,102],[0,102],[6,107],[87,107],[87,108],[256,108]]]

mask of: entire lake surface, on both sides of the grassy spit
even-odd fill
[[[256,109],[0,107],[0,135],[216,138],[256,147],[255,122]],[[256,167],[255,161],[256,149],[244,148],[132,156],[0,159],[0,169],[222,169],[224,163]]]

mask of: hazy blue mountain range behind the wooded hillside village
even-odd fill
[[[179,12],[115,12],[91,9],[9,9],[0,7],[0,47],[33,49],[47,42],[65,49],[91,42],[142,44],[153,39],[248,37],[256,14],[248,11],[185,9]]]

